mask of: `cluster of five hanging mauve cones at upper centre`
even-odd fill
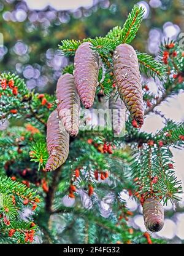
[[[47,121],[47,150],[49,158],[46,171],[57,169],[67,159],[69,135],[77,136],[80,121],[80,100],[85,108],[93,106],[98,86],[99,54],[91,49],[90,42],[83,42],[75,52],[74,75],[66,73],[58,79],[56,88],[57,109]],[[120,44],[113,54],[113,73],[118,90],[109,98],[110,109],[126,108],[133,119],[142,126],[144,108],[139,64],[136,51],[128,44]],[[115,117],[114,132],[119,134],[120,116]]]

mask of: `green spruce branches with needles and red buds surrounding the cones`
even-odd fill
[[[62,54],[71,56],[82,42],[89,41],[100,55],[96,104],[113,90],[113,50],[134,39],[143,14],[141,7],[134,6],[123,28],[113,28],[104,38],[63,40],[59,45]],[[177,42],[165,42],[159,55],[160,59],[154,60],[137,50],[140,70],[162,79],[157,98],[142,85],[145,115],[184,87],[184,58]],[[69,65],[63,73],[73,70]],[[42,241],[48,243],[164,242],[129,226],[128,219],[134,214],[127,209],[121,192],[128,191],[137,202],[150,194],[164,204],[180,199],[182,187],[175,178],[170,148],[183,148],[183,124],[166,120],[162,130],[148,134],[128,116],[124,137],[114,138],[109,130],[80,131],[77,138],[71,138],[69,158],[63,166],[46,173],[45,131],[56,97],[29,91],[15,74],[2,73],[0,79],[1,126],[12,121],[12,126],[0,133],[0,242],[33,242],[39,230]],[[18,118],[25,121],[23,127],[18,126]],[[71,201],[75,198],[75,204],[66,207],[62,198],[69,196]],[[36,209],[26,221],[21,214],[25,206]],[[57,218],[62,220],[60,234],[56,233]]]

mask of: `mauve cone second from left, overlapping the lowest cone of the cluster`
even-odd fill
[[[72,74],[63,74],[56,88],[59,119],[66,131],[75,137],[79,132],[80,98]]]

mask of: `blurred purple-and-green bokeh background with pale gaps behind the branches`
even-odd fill
[[[58,50],[61,39],[104,36],[113,26],[123,25],[134,4],[145,8],[145,16],[132,45],[156,57],[164,39],[177,39],[184,32],[183,0],[1,0],[0,71],[19,74],[30,90],[53,93],[62,69],[71,61]],[[156,93],[159,81],[142,79]],[[183,102],[184,94],[180,92],[162,103],[156,108],[157,114],[146,118],[142,130],[155,133],[164,126],[165,118],[183,122]],[[177,177],[184,183],[184,150],[171,150]],[[136,212],[129,220],[130,225],[145,231],[142,207],[126,191],[121,196],[129,209]],[[105,200],[102,204],[108,215],[109,204]],[[170,243],[183,242],[184,196],[177,204],[168,204],[164,209],[165,226],[154,236]]]

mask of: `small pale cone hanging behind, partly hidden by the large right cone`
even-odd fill
[[[109,108],[112,110],[112,127],[115,135],[125,131],[126,106],[120,98],[117,89],[113,90],[109,98]]]

